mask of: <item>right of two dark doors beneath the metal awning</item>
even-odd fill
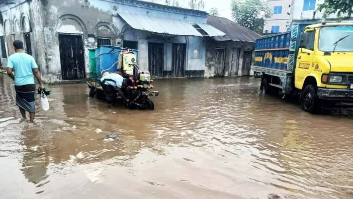
[[[173,44],[172,51],[172,77],[185,76],[185,44]]]

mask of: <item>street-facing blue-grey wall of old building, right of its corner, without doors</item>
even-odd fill
[[[206,23],[203,12],[180,11],[176,8],[165,8],[163,5],[150,6],[144,2],[113,1],[113,0],[48,0],[41,5],[44,27],[44,43],[46,66],[43,67],[43,79],[47,82],[61,81],[61,63],[59,53],[58,34],[79,34],[83,36],[86,73],[88,74],[88,48],[96,46],[97,37],[111,37],[112,45],[120,44],[121,38],[138,41],[139,64],[142,70],[148,70],[148,42],[156,41],[154,35],[136,30],[129,30],[128,25],[118,16],[118,12],[146,14],[154,17],[182,20],[186,22]],[[103,27],[103,28],[102,28]],[[126,31],[126,32],[125,32]],[[185,38],[158,38],[158,42],[173,43],[186,42]],[[93,42],[94,41],[94,42]],[[190,70],[202,70],[205,49],[202,39],[190,39],[187,55],[197,49],[200,58],[192,59],[186,66]],[[165,46],[165,70],[171,68],[171,45]],[[191,56],[190,56],[191,57]]]

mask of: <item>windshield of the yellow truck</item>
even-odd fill
[[[353,52],[353,26],[321,28],[319,50]]]

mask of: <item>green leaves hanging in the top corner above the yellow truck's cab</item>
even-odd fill
[[[318,10],[320,12],[324,10],[323,18],[337,12],[337,17],[341,19],[345,14],[351,16],[353,13],[352,8],[353,0],[325,0],[324,3],[319,4]]]

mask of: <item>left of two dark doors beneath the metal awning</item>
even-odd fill
[[[151,72],[151,77],[163,77],[163,66],[163,43],[148,43],[148,70]]]

